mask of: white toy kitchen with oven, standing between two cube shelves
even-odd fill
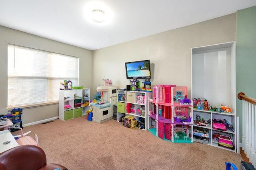
[[[100,95],[100,103],[91,103],[93,109],[92,121],[102,123],[112,119],[113,105],[117,104],[117,86],[98,86],[96,92]]]

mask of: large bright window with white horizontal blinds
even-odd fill
[[[57,102],[60,82],[78,85],[79,58],[8,45],[8,109]]]

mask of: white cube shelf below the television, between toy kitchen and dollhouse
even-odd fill
[[[122,123],[123,117],[130,116],[136,119],[137,128],[147,130],[148,97],[152,92],[118,90],[117,121]]]

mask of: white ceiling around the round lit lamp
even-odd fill
[[[0,25],[95,50],[251,6],[256,0],[0,0]],[[95,8],[104,22],[92,22]]]

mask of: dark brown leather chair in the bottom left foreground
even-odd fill
[[[21,145],[0,153],[0,170],[68,170],[58,164],[46,164],[44,150],[35,145]]]

